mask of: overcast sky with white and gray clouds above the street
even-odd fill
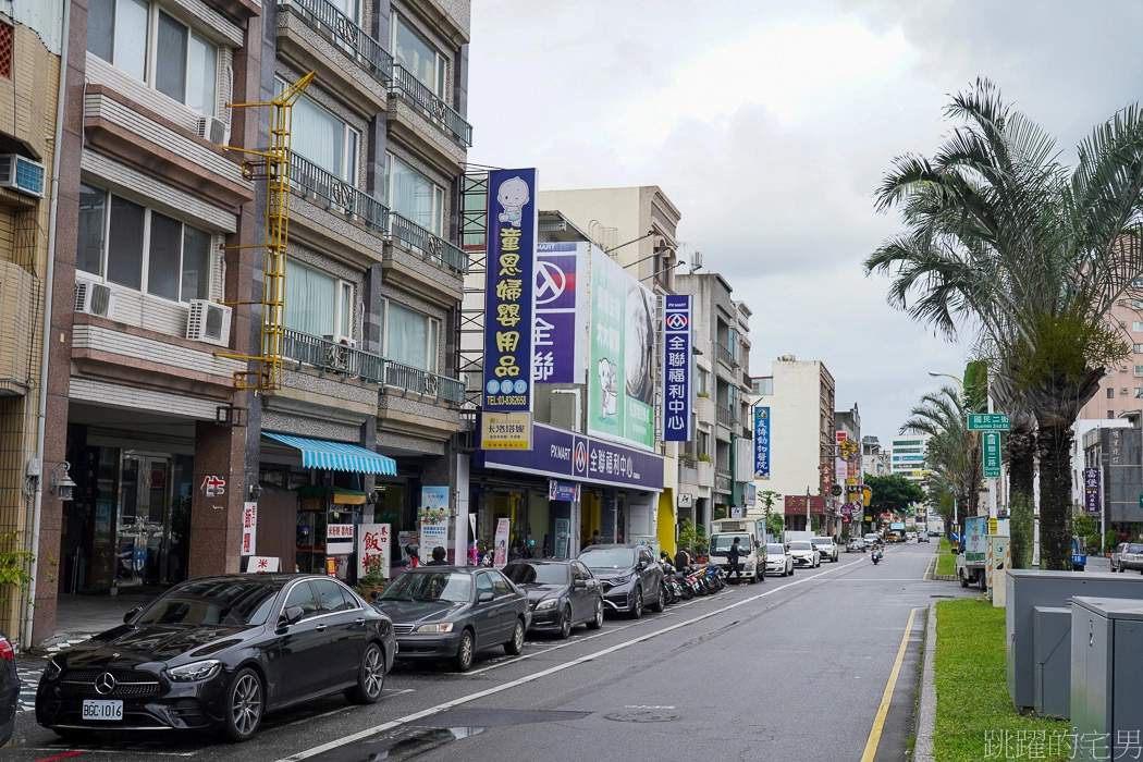
[[[1143,3],[1053,0],[472,0],[469,161],[536,167],[545,190],[658,185],[753,312],[751,374],[822,360],[837,409],[886,443],[961,375],[886,304],[862,262],[902,230],[873,192],[932,154],[978,77],[1074,146],[1143,98]]]

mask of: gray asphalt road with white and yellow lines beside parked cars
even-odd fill
[[[136,735],[77,747],[25,712],[5,759],[860,760],[903,653],[876,756],[903,760],[922,607],[970,592],[922,579],[935,547],[892,547],[877,567],[842,554],[600,633],[536,639],[520,658],[489,652],[465,675],[399,666],[377,705],[337,697],[271,715],[241,746]]]

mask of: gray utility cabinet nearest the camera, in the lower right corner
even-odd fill
[[[1077,760],[1129,759],[1143,728],[1143,600],[1072,599],[1071,724]]]

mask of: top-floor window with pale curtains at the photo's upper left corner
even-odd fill
[[[91,0],[87,23],[89,53],[214,115],[218,46],[145,0]]]

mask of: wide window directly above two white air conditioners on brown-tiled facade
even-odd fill
[[[210,233],[113,193],[80,185],[75,266],[173,302],[210,292]],[[144,288],[145,284],[145,288]]]

